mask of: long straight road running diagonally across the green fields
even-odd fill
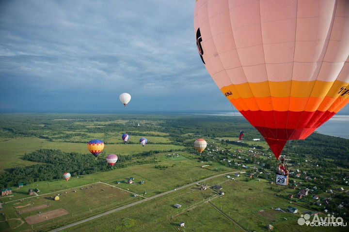
[[[218,174],[218,175],[213,175],[213,176],[207,177],[207,178],[205,178],[205,179],[198,180],[198,181],[195,181],[195,182],[193,182],[193,183],[190,183],[190,184],[187,184],[187,185],[178,187],[178,188],[176,188],[176,190],[180,190],[180,189],[183,189],[183,188],[188,188],[188,187],[193,186],[193,185],[196,185],[196,184],[198,184],[198,183],[200,183],[200,182],[207,181],[207,180],[210,180],[210,179],[212,179],[212,178],[216,178],[216,177],[219,177],[219,176],[222,176],[222,175],[233,174],[233,173],[238,173],[238,172],[240,172],[240,171],[228,172],[228,173],[222,173],[222,174]],[[69,224],[69,225],[59,227],[59,228],[57,228],[57,229],[51,230],[50,232],[59,232],[59,231],[63,231],[63,230],[65,230],[65,229],[68,229],[68,228],[70,228],[70,227],[73,227],[73,226],[82,224],[82,223],[84,223],[84,222],[94,220],[94,219],[96,219],[96,218],[98,218],[98,217],[103,217],[103,216],[106,216],[106,215],[109,215],[109,214],[118,212],[118,211],[120,211],[120,210],[129,208],[129,207],[131,207],[131,206],[133,206],[133,205],[140,204],[140,203],[143,203],[143,202],[146,202],[146,201],[150,201],[150,200],[152,200],[152,199],[155,199],[155,198],[158,198],[158,197],[167,195],[167,194],[169,194],[169,193],[175,192],[176,190],[169,190],[169,191],[167,191],[167,192],[159,193],[159,194],[157,194],[157,195],[154,195],[154,196],[145,198],[145,199],[143,199],[143,200],[141,200],[141,201],[134,202],[134,203],[129,203],[129,204],[124,205],[124,206],[121,206],[121,207],[119,207],[119,208],[112,209],[112,210],[109,210],[109,211],[107,211],[107,212],[104,212],[104,213],[95,215],[95,216],[93,216],[93,217],[88,217],[88,218],[86,218],[86,219],[83,219],[83,220],[80,220],[80,221],[71,223],[71,224]]]

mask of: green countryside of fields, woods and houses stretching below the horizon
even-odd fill
[[[310,228],[297,223],[305,213],[317,211],[325,217],[325,209],[348,220],[344,213],[349,203],[349,166],[345,159],[337,162],[337,156],[349,146],[344,139],[316,134],[305,142],[288,144],[284,155],[289,168],[301,176],[290,176],[289,187],[280,187],[269,183],[275,181],[277,162],[263,138],[242,117],[14,114],[0,115],[0,126],[1,183],[6,175],[35,173],[32,179],[21,181],[23,188],[5,186],[12,187],[13,194],[0,197],[0,231],[61,231],[74,223],[63,230],[239,232],[267,231],[271,224],[274,231],[346,231],[345,227]],[[237,139],[240,130],[245,132],[242,142]],[[130,134],[127,144],[121,140],[125,132]],[[141,137],[149,144],[142,147]],[[86,145],[95,138],[105,142],[97,161]],[[196,138],[208,143],[201,157],[193,149]],[[76,152],[58,152],[57,157],[81,155],[87,160],[82,159],[86,163],[79,165],[81,170],[64,160],[52,166],[49,162],[55,156],[46,159],[50,151],[44,151],[40,160],[28,160],[25,153],[39,149]],[[108,154],[119,155],[114,169],[100,161]],[[40,168],[28,169],[35,164]],[[59,175],[40,175],[44,167]],[[61,178],[65,171],[72,174],[68,182]],[[234,179],[218,176],[224,173],[231,173]],[[130,177],[134,183],[127,184]],[[220,190],[210,188],[217,184],[222,186],[223,196]],[[203,185],[206,190],[201,190]],[[28,196],[30,188],[40,191]],[[305,188],[309,195],[297,199],[297,193]],[[295,197],[290,199],[289,194]],[[59,201],[53,200],[56,195]],[[315,204],[315,195],[321,206]],[[182,207],[175,208],[175,203]],[[339,210],[339,204],[344,208]],[[289,213],[289,206],[298,213]],[[179,226],[181,222],[185,228]]]

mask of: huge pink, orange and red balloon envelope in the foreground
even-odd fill
[[[278,159],[349,102],[348,0],[197,0],[196,44]]]

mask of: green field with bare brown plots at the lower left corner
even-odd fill
[[[53,197],[57,194],[60,194],[60,200],[54,201]],[[37,215],[39,212],[45,213],[59,208],[66,209],[69,212],[68,215],[33,225],[34,230],[48,230],[57,225],[64,225],[85,217],[90,217],[108,209],[135,202],[139,199],[140,198],[133,197],[133,195],[127,191],[96,183],[85,187],[27,198],[22,201],[10,202],[4,205],[4,209],[6,210],[7,217],[20,218],[21,220],[25,220],[26,217],[32,215]],[[49,207],[32,210],[26,213],[20,212],[21,210],[28,210],[39,205],[49,205]],[[10,227],[14,228],[16,225],[10,225]],[[31,227],[29,227],[27,223],[24,223],[15,231],[22,231],[29,228]]]

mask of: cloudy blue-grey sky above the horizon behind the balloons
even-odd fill
[[[194,5],[0,1],[0,112],[232,111],[198,55]]]

